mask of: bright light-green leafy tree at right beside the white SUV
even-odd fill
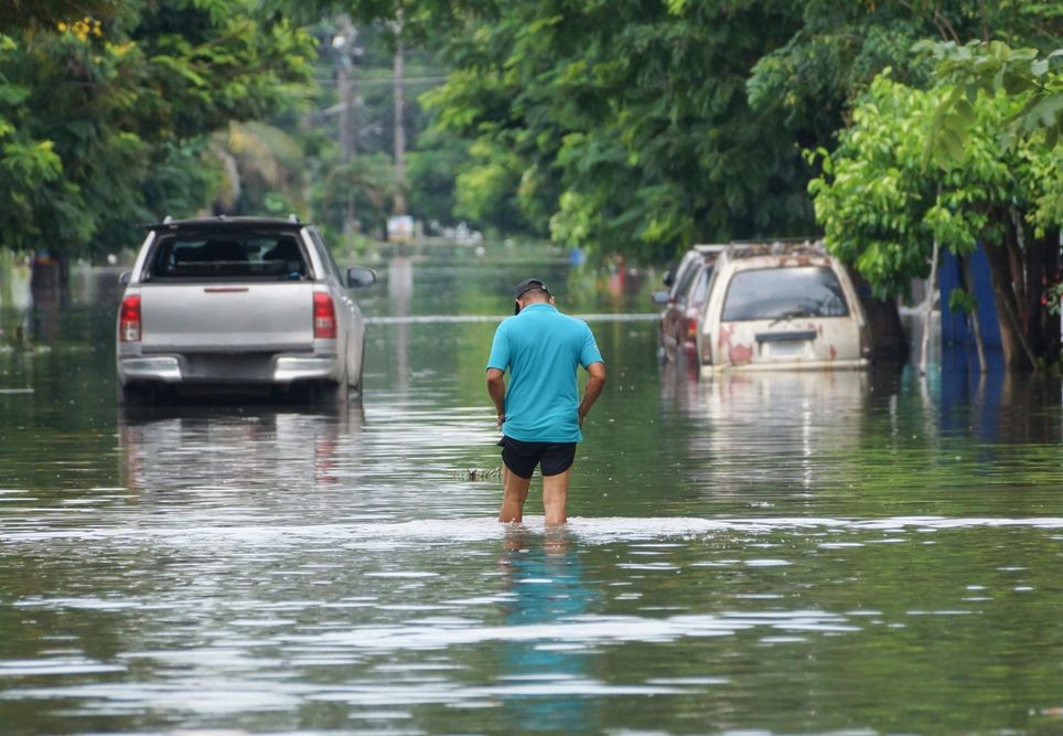
[[[1007,364],[1032,367],[1059,353],[1059,322],[1046,319],[1042,305],[1057,249],[1028,217],[1057,174],[1043,166],[1043,136],[1001,149],[1000,134],[1022,104],[1003,94],[980,96],[965,108],[971,124],[966,146],[947,166],[928,166],[924,151],[949,94],[947,84],[923,92],[889,71],[876,78],[838,148],[824,157],[824,174],[809,185],[816,214],[828,248],[880,296],[925,277],[935,242],[960,258],[983,243]]]

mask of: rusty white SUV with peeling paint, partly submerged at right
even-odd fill
[[[733,244],[719,257],[696,349],[702,374],[861,369],[868,323],[846,269],[818,242]]]

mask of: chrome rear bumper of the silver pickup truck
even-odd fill
[[[119,355],[118,378],[128,383],[256,383],[340,381],[340,356],[314,355]]]

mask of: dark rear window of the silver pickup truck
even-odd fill
[[[193,233],[160,237],[149,273],[152,280],[288,281],[309,268],[293,234]]]

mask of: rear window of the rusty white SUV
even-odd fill
[[[739,271],[723,302],[726,322],[848,314],[838,277],[826,267]]]

